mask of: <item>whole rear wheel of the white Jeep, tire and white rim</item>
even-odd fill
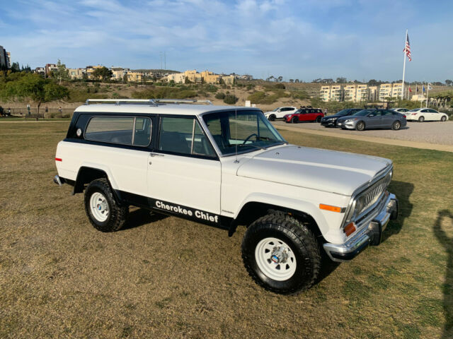
[[[124,225],[129,208],[115,201],[107,179],[93,180],[85,191],[85,212],[91,225],[101,232],[115,232]]]

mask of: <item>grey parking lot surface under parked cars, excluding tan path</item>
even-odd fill
[[[423,123],[408,121],[407,126],[403,127],[399,131],[392,131],[391,129],[352,131],[326,128],[324,126],[321,126],[321,124],[316,124],[313,122],[287,124],[284,121],[273,121],[273,124],[277,128],[279,128],[280,126],[290,126],[291,128],[297,128],[306,131],[323,131],[328,133],[335,133],[338,136],[351,136],[351,138],[354,138],[354,136],[368,136],[374,138],[413,141],[414,143],[453,145],[453,121],[425,121]],[[405,145],[407,144],[405,143]]]

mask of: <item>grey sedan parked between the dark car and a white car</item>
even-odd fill
[[[342,129],[394,129],[395,131],[406,126],[406,116],[391,109],[362,109],[348,117],[337,120]]]

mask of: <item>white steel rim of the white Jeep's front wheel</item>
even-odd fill
[[[265,238],[258,242],[255,260],[261,272],[273,280],[288,280],[296,272],[294,252],[285,242],[277,238]]]

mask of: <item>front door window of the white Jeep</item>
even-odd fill
[[[182,155],[215,157],[214,149],[193,118],[161,118],[159,150]]]

